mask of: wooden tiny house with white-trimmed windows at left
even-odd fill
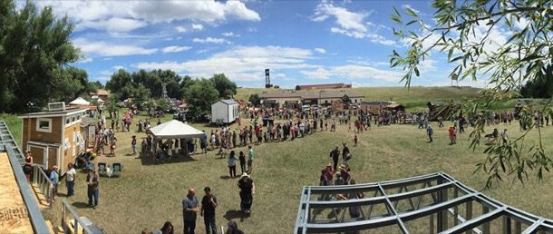
[[[48,111],[19,116],[23,121],[22,149],[32,152],[34,164],[44,169],[57,165],[64,171],[84,150],[81,122],[88,109],[66,107],[63,102],[48,105]]]

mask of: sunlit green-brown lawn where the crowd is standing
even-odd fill
[[[169,119],[170,116],[164,118]],[[208,127],[193,125],[210,132]],[[256,161],[252,179],[256,183],[257,193],[252,215],[248,218],[241,216],[238,211],[239,197],[235,187],[238,179],[228,179],[227,161],[218,159],[213,151],[207,155],[194,155],[192,159],[177,158],[169,163],[155,164],[150,159],[126,156],[131,152],[131,135],[136,133],[117,132],[117,156],[100,157],[95,162],[118,161],[124,168],[117,178],[102,177],[99,208],[92,210],[85,206],[85,174],[80,174],[77,179],[75,197],[68,200],[81,216],[89,217],[108,233],[139,233],[144,228],[160,229],[167,220],[180,233],[180,201],[188,188],[196,188],[200,200],[203,188],[209,186],[218,197],[218,226],[232,219],[246,233],[290,233],[296,223],[302,186],[318,184],[320,170],[329,162],[329,151],[342,141],[350,142],[354,154],[350,164],[353,178],[358,183],[445,171],[474,189],[482,188],[485,175],[481,172],[473,174],[473,171],[475,163],[484,157],[481,151],[485,146],[477,151],[469,150],[469,142],[466,141],[468,133],[460,134],[458,144],[449,145],[446,129],[433,125],[435,141],[432,144],[426,142],[425,132],[414,125],[391,125],[373,127],[369,132],[358,134],[360,144],[353,147],[354,133],[348,132],[345,125],[338,125],[337,132],[316,132],[295,141],[254,146]],[[504,127],[502,124],[498,126],[500,129]],[[518,125],[506,127],[511,139],[520,134]],[[488,129],[491,131],[492,127]],[[549,126],[542,134],[545,141],[550,141],[553,127]],[[139,138],[142,136],[138,134]],[[529,140],[535,141],[536,137],[536,132],[532,132]],[[549,155],[551,149],[548,145]],[[234,150],[246,151],[245,148]],[[518,182],[511,184],[509,180],[500,184],[500,187],[483,192],[521,210],[553,218],[549,195],[553,180],[550,177],[547,174],[541,182],[532,177],[524,185]],[[60,191],[65,192],[65,188],[62,187]],[[422,227],[425,229],[428,226]],[[424,229],[414,231],[423,233]],[[203,220],[200,218],[197,231],[204,232]]]

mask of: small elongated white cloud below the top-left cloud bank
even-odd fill
[[[104,41],[91,42],[84,38],[73,40],[73,44],[81,48],[84,54],[97,54],[100,56],[126,56],[136,54],[154,54],[158,49],[148,49],[136,45],[110,44]]]

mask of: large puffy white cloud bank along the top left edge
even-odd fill
[[[223,23],[228,19],[261,20],[259,14],[242,1],[41,0],[34,4],[39,8],[53,6],[55,15],[68,15],[77,29],[95,28],[108,32],[130,32],[149,24],[182,20],[205,23]]]

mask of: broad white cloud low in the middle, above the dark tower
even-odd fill
[[[307,63],[312,57],[311,50],[300,48],[237,46],[201,60],[137,63],[133,66],[143,69],[170,69],[192,77],[209,77],[213,73],[225,73],[235,81],[262,81],[265,79],[263,71],[266,68],[272,71],[315,68],[315,65]]]

